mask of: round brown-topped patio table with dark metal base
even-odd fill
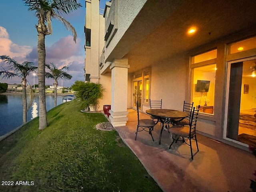
[[[187,112],[172,109],[148,109],[146,110],[146,113],[157,118],[158,121],[162,123],[162,128],[159,135],[159,144],[161,144],[162,132],[166,126],[169,128],[169,124],[175,124],[176,122],[179,122],[189,116]]]

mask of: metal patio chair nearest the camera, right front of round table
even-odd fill
[[[172,143],[169,146],[169,149],[171,148],[172,144],[174,142],[177,143],[178,139],[182,137],[182,142],[186,143],[188,146],[190,146],[190,152],[191,152],[191,158],[193,160],[193,152],[192,152],[192,143],[191,140],[196,141],[196,148],[197,151],[198,149],[198,144],[197,144],[197,139],[196,139],[196,121],[198,118],[198,112],[199,108],[195,109],[195,107],[192,110],[192,115],[190,118],[189,126],[184,126],[184,125],[174,125],[169,128],[169,132],[172,135]],[[189,140],[189,143],[188,141]]]

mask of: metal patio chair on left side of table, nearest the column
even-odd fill
[[[154,138],[152,136],[152,131],[154,129],[154,126],[156,125],[155,122],[151,119],[140,119],[138,101],[136,103],[136,108],[137,108],[138,124],[137,124],[137,129],[136,129],[135,140],[137,139],[138,132],[144,130],[150,134],[150,136],[152,137],[152,140],[154,141]]]

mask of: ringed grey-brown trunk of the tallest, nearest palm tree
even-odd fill
[[[38,32],[38,90],[39,90],[39,130],[47,127],[45,104],[45,34]]]

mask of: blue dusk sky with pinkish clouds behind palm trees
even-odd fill
[[[106,1],[100,0],[100,8],[104,9]],[[52,20],[52,35],[45,38],[46,63],[54,63],[58,68],[68,66],[71,80],[63,80],[64,87],[70,87],[76,80],[84,80],[84,24],[85,0],[78,0],[82,7],[69,15],[63,15],[76,29],[78,37],[73,41],[72,33],[66,30],[61,22]],[[22,63],[34,62],[37,66],[37,18],[34,11],[28,11],[22,0],[1,1],[0,12],[0,55],[8,55]],[[6,64],[0,60],[0,67],[8,70]],[[20,84],[18,78],[1,79],[2,83]],[[33,74],[28,77],[33,85]],[[61,86],[61,80],[58,81]],[[35,76],[35,84],[38,84]],[[53,85],[52,79],[46,79],[46,84]]]

